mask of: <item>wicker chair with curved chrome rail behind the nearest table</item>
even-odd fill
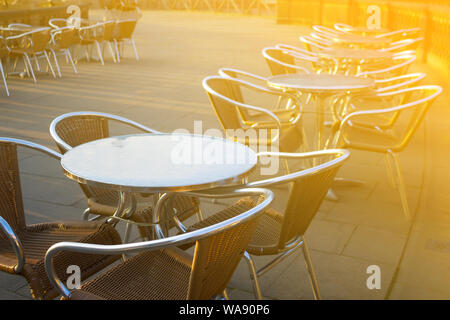
[[[67,150],[80,144],[109,137],[110,121],[122,123],[146,133],[159,133],[142,124],[112,114],[72,112],[54,119],[50,125],[50,134],[59,150],[65,153]],[[118,192],[98,187],[88,187],[84,184],[80,184],[80,187],[88,199],[88,208],[83,213],[84,220],[87,220],[91,214],[100,217],[114,215],[119,202]],[[197,214],[201,218],[199,201],[194,197],[176,196],[173,200],[173,209],[176,210],[176,217],[181,221],[194,214]],[[137,210],[131,219],[139,225],[150,223],[152,221],[151,217],[152,209],[147,207],[142,210]],[[153,237],[151,228],[141,226],[139,227],[139,231],[143,238],[150,239]]]

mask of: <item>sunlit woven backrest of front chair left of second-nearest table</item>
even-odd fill
[[[207,94],[222,127],[225,130],[242,128],[236,105],[218,96],[240,101],[236,99],[236,87],[232,84],[232,81],[224,78],[209,78],[206,80],[206,84],[214,91],[214,93],[207,92]],[[242,96],[240,99],[242,100]]]

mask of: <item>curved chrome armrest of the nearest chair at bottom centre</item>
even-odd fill
[[[195,193],[197,194],[197,193]],[[205,191],[201,194],[211,197],[232,197],[232,196],[263,196],[264,200],[258,205],[248,210],[247,212],[233,217],[226,221],[217,223],[215,225],[205,227],[192,232],[182,233],[176,236],[118,245],[99,245],[77,242],[59,242],[51,246],[45,255],[45,270],[52,285],[65,297],[70,297],[71,292],[66,285],[59,279],[56,274],[53,257],[62,251],[86,253],[86,254],[101,254],[101,255],[120,255],[125,253],[136,253],[140,251],[154,251],[167,247],[180,246],[193,241],[201,240],[212,234],[218,233],[230,224],[243,223],[248,221],[252,216],[258,212],[262,212],[273,200],[273,192],[261,188],[237,189],[229,194],[211,194],[211,191]]]

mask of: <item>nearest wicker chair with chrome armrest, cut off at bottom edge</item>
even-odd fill
[[[63,242],[46,255],[46,270],[64,298],[109,300],[204,300],[220,295],[233,275],[256,228],[262,211],[273,200],[265,189],[241,189],[229,194],[215,191],[196,194],[209,198],[259,196],[254,206],[231,219],[208,227],[148,242],[101,246]],[[177,248],[195,243],[193,257]],[[70,292],[54,270],[60,252],[124,254],[140,252],[97,278]]]

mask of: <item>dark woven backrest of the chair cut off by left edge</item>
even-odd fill
[[[0,215],[14,231],[25,228],[17,146],[5,142],[0,142]]]

